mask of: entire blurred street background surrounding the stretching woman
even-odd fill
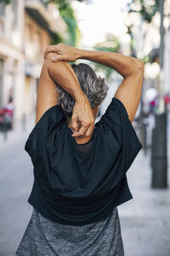
[[[60,42],[144,61],[133,120],[143,148],[127,172],[133,200],[118,211],[126,256],[169,256],[170,0],[0,0],[0,256],[14,255],[31,218],[33,168],[24,146],[35,125],[42,54]],[[122,76],[79,62],[110,86],[97,121]]]

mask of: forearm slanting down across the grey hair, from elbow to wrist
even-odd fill
[[[71,71],[72,67],[70,63],[66,61],[53,62],[49,55],[46,57],[45,65],[48,67],[48,73],[51,79],[68,92],[75,101],[82,102],[86,96],[82,91],[76,75]]]

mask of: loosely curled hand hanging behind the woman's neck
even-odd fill
[[[94,131],[94,113],[88,102],[75,102],[71,116],[71,127],[76,133],[72,137],[89,137]]]

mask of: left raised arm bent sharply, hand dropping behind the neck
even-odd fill
[[[53,54],[53,56],[56,54]],[[55,84],[59,84],[74,99],[75,105],[71,117],[73,137],[90,136],[94,128],[94,113],[88,102],[88,97],[83,93],[70,63],[66,61],[53,62],[52,54],[48,54],[42,66],[42,72],[37,86],[37,118],[36,123],[48,108],[58,102],[58,95]],[[78,131],[79,121],[82,125]]]

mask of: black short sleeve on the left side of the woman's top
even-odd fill
[[[25,150],[35,161],[39,156],[45,154],[45,143],[48,133],[57,129],[57,126],[65,119],[65,114],[59,105],[54,105],[42,114],[37,124],[32,129],[26,140]]]

